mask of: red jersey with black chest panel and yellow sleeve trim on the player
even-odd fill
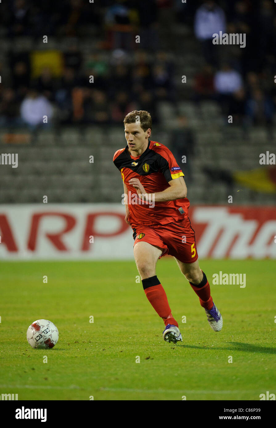
[[[120,170],[128,189],[129,222],[132,228],[138,225],[168,224],[188,218],[189,199],[141,203],[136,189],[129,184],[131,178],[138,178],[147,193],[157,193],[167,189],[169,181],[183,177],[184,174],[168,147],[149,140],[144,153],[135,158],[130,155],[126,146],[115,152],[113,162]]]

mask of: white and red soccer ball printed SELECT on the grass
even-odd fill
[[[27,341],[37,348],[53,348],[58,341],[57,327],[48,320],[37,320],[27,330]]]

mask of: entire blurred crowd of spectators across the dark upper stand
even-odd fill
[[[225,116],[234,116],[241,125],[273,124],[276,14],[272,1],[100,3],[1,3],[2,38],[37,40],[48,35],[66,37],[70,44],[59,52],[58,71],[49,65],[37,72],[29,51],[15,53],[11,49],[2,56],[0,75],[4,77],[6,70],[6,79],[2,78],[0,85],[0,126],[27,124],[35,128],[43,116],[50,124],[121,124],[135,109],[150,111],[158,123],[159,101],[168,101],[172,108],[182,101],[174,83],[175,63],[170,53],[160,48],[164,22],[168,28],[188,27],[202,49],[204,64],[193,76],[196,104],[214,100]],[[98,44],[87,54],[81,40],[90,27]],[[213,33],[219,31],[246,33],[246,48],[224,50],[213,45]],[[141,36],[140,44],[135,44],[136,34]]]

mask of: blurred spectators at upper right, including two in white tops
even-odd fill
[[[225,2],[224,2],[225,3]],[[204,2],[195,13],[195,36],[206,64],[195,76],[195,101],[213,99],[240,125],[273,125],[276,109],[276,14],[273,2],[236,1],[225,9]],[[213,33],[245,34],[244,48],[213,44]],[[225,49],[228,48],[228,49]]]

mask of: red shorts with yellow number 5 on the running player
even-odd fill
[[[159,259],[167,254],[176,257],[183,263],[193,263],[198,259],[195,231],[192,229],[189,217],[164,225],[139,225],[133,227],[132,230],[134,245],[143,241],[163,248]]]

